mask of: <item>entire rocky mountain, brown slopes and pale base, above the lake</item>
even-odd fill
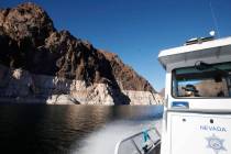
[[[16,102],[153,105],[156,91],[118,55],[57,31],[34,3],[0,10],[0,97]]]

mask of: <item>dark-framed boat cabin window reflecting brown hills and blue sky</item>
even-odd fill
[[[205,64],[173,70],[173,97],[231,97],[231,63]]]

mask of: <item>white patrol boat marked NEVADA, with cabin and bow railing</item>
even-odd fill
[[[166,70],[162,135],[140,132],[114,154],[231,154],[231,37],[193,38],[158,61]]]

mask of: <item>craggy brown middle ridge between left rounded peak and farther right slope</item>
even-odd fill
[[[91,44],[75,38],[67,31],[54,32],[46,38],[43,51],[57,55],[56,75],[88,84],[107,82],[117,85],[110,62]],[[117,87],[114,87],[117,88]]]

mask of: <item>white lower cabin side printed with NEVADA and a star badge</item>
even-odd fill
[[[231,114],[167,113],[168,154],[230,154]]]

